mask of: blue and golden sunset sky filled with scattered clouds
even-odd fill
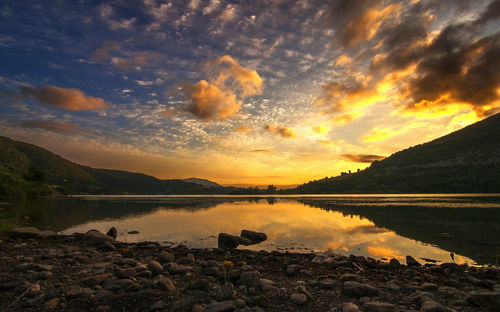
[[[0,135],[225,185],[356,171],[500,111],[500,1],[1,1]]]

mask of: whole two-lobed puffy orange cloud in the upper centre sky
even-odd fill
[[[245,97],[262,92],[259,74],[229,55],[208,61],[203,69],[208,81],[186,83],[182,88],[188,100],[187,110],[202,120],[238,116]]]

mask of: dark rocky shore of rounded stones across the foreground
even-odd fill
[[[500,311],[500,271],[407,257],[0,234],[0,311]]]

